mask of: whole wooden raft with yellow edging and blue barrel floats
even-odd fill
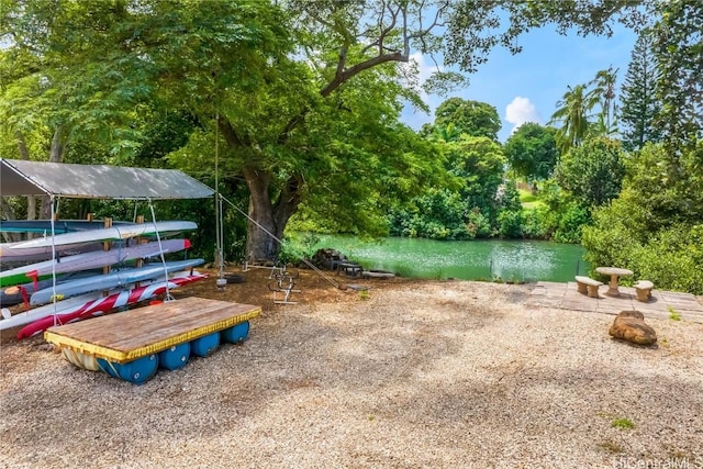
[[[44,338],[80,368],[142,384],[159,367],[177,370],[192,356],[208,357],[221,342],[245,340],[249,320],[260,312],[250,304],[191,297],[54,326]]]

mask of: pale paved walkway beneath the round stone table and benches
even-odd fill
[[[527,304],[563,310],[591,311],[603,314],[617,314],[625,310],[640,311],[645,317],[670,319],[678,314],[683,321],[703,323],[703,297],[673,291],[652,290],[651,300],[637,301],[635,289],[621,287],[620,297],[605,295],[607,284],[599,290],[599,298],[590,298],[577,291],[576,282],[537,282]]]

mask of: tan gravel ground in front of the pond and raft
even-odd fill
[[[426,281],[267,304],[243,345],[144,386],[3,336],[0,467],[703,468],[703,325],[648,320],[659,346],[636,347],[613,316],[528,294]]]

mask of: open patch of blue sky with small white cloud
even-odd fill
[[[432,113],[406,108],[402,121],[419,130],[422,124],[433,122],[435,108],[451,97],[487,102],[495,107],[503,121],[499,139],[505,142],[523,122],[546,124],[569,85],[587,83],[599,70],[612,65],[620,68],[620,86],[636,40],[634,32],[620,26],[611,37],[581,37],[576,33],[561,36],[548,27],[532,31],[520,38],[522,53],[511,55],[506,49],[495,48],[489,62],[469,76],[468,88],[446,97],[427,96],[425,102]],[[425,76],[435,67],[429,57],[416,54],[414,58]]]

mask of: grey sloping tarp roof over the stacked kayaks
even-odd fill
[[[76,199],[202,199],[212,189],[176,169],[0,158],[0,196]]]

